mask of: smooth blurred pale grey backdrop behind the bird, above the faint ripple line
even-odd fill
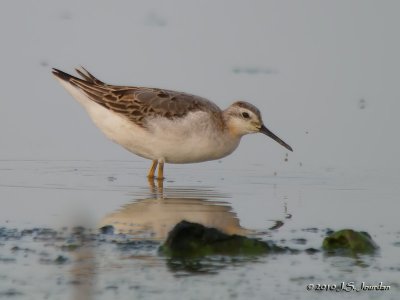
[[[82,65],[222,108],[248,100],[295,150],[285,163],[281,146],[247,136],[226,163],[398,169],[399,11],[365,0],[3,2],[0,159],[141,160],[107,141],[50,72]]]

